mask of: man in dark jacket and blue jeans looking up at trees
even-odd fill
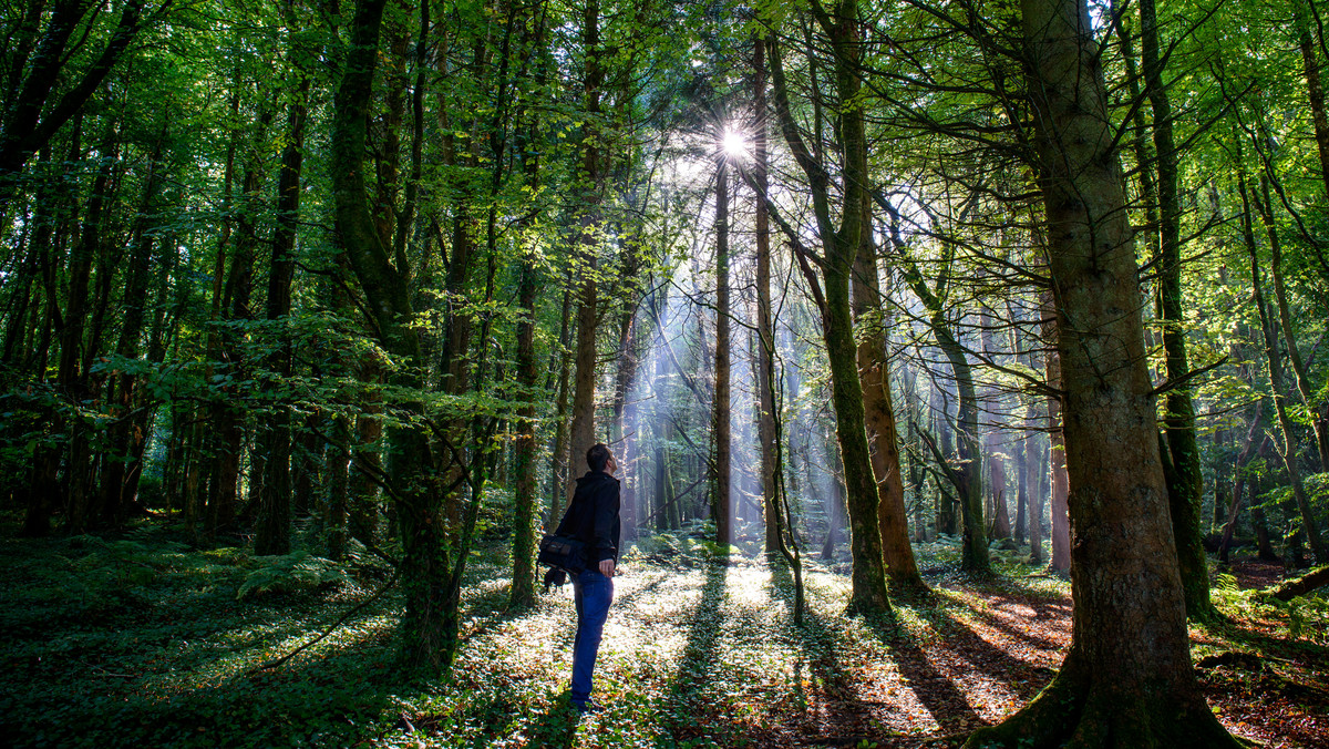
[[[621,533],[618,463],[603,444],[586,451],[586,475],[577,479],[573,502],[558,524],[558,535],[571,535],[586,544],[586,567],[573,576],[577,637],[573,640],[571,706],[578,713],[599,709],[590,698],[595,656],[614,600],[614,568]]]

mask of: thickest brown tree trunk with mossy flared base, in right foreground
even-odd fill
[[[1084,0],[1025,0],[1062,335],[1074,623],[1053,682],[965,746],[1240,746],[1191,667],[1135,253]]]

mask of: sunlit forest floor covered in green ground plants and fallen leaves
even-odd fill
[[[4,528],[12,531],[12,525]],[[505,612],[494,544],[472,565],[449,678],[393,669],[395,591],[368,559],[253,557],[178,528],[0,537],[0,736],[13,746],[954,746],[1047,684],[1070,643],[1069,583],[998,553],[956,571],[920,544],[933,595],[847,619],[845,565],[809,563],[807,621],[781,569],[684,551],[629,557],[595,672],[601,713],[567,709],[571,592]],[[1025,552],[1027,553],[1027,552]],[[1233,733],[1329,746],[1329,607],[1263,603],[1276,568],[1239,563],[1192,627],[1204,692]],[[243,593],[243,597],[238,597]]]

